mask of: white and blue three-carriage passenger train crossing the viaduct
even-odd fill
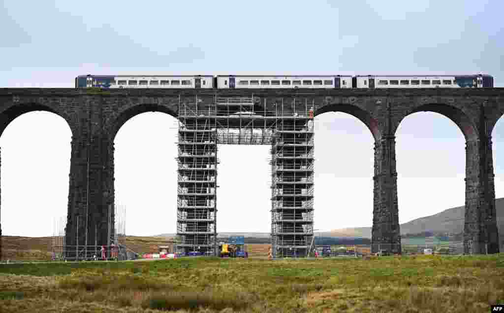
[[[346,88],[492,88],[490,75],[80,75],[76,88],[172,89],[346,89]]]

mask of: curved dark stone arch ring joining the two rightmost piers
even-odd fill
[[[394,125],[394,134],[397,132],[399,125],[407,116],[418,112],[434,112],[449,118],[462,131],[462,134],[464,134],[464,137],[466,138],[466,142],[474,141],[479,138],[478,129],[474,121],[461,109],[445,103],[425,103],[414,107],[400,118],[397,125]]]

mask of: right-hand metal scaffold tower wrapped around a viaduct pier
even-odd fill
[[[281,108],[271,148],[273,257],[306,257],[313,238],[313,103]]]

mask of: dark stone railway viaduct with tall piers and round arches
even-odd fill
[[[216,96],[250,96],[252,93],[266,111],[273,110],[278,101],[294,105],[303,103],[299,109],[304,110],[305,99],[308,99],[314,103],[315,116],[331,111],[344,112],[367,126],[374,137],[373,250],[376,250],[376,244],[400,245],[395,154],[395,132],[399,124],[409,114],[421,111],[448,117],[458,125],[466,139],[464,251],[498,252],[491,133],[504,114],[504,88],[4,88],[0,89],[0,135],[16,117],[31,111],[52,112],[67,121],[72,131],[72,155],[66,243],[85,244],[87,221],[97,227],[96,241],[102,245],[107,243],[107,208],[114,203],[114,137],[121,125],[144,112],[164,112],[177,118],[179,103],[194,102],[196,96],[199,101],[211,102]],[[351,153],[351,148],[345,150]],[[88,234],[88,242],[94,244],[95,232]]]

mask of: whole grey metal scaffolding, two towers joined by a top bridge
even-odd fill
[[[216,253],[217,144],[270,144],[274,257],[305,257],[313,241],[313,100],[250,96],[178,103],[177,251]]]

